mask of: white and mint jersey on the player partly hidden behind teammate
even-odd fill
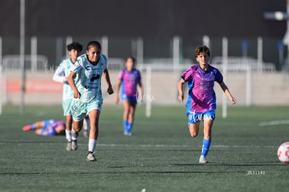
[[[66,81],[66,77],[71,73],[72,66],[73,63],[71,62],[71,59],[68,58],[59,64],[59,67],[57,67],[57,70],[54,73],[53,80],[64,83],[62,99],[73,99],[73,90]]]

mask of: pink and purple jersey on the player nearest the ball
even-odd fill
[[[194,113],[216,110],[214,81],[223,82],[218,69],[210,65],[209,71],[205,72],[200,65],[193,65],[181,74],[181,79],[188,82],[188,110]]]

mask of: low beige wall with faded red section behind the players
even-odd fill
[[[115,88],[119,72],[110,72],[112,86]],[[52,81],[53,73],[42,72],[35,75],[27,73],[26,104],[61,104],[62,84]],[[7,84],[10,86],[6,93],[8,104],[20,104],[20,73],[6,73]],[[289,103],[289,83],[284,81],[281,73],[253,74],[252,75],[252,104],[253,105],[286,105]],[[152,104],[180,104],[177,100],[177,82],[179,73],[152,72],[151,93],[147,93],[147,73],[142,72],[144,84],[144,100],[151,99]],[[271,79],[271,80],[269,80]],[[236,97],[238,105],[246,105],[246,73],[229,72],[225,83],[230,88],[232,95]],[[103,79],[104,104],[114,104],[115,95],[106,93],[107,85]],[[222,104],[223,91],[218,83],[215,83],[217,104]],[[184,89],[186,93],[186,89]],[[185,94],[187,96],[187,94]],[[185,98],[186,99],[186,98]],[[230,100],[226,98],[226,102]]]

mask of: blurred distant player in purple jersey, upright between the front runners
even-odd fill
[[[140,95],[138,95],[138,85],[140,86]],[[115,102],[119,103],[119,90],[121,88],[121,100],[124,106],[124,135],[132,136],[133,120],[135,115],[135,106],[138,98],[142,101],[143,87],[140,77],[140,71],[135,69],[135,58],[126,58],[126,68],[119,72],[119,81],[117,82]]]

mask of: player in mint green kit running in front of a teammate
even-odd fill
[[[87,53],[79,56],[71,67],[68,83],[73,89],[73,127],[75,138],[82,129],[83,119],[89,116],[90,131],[87,161],[96,161],[94,155],[98,138],[98,120],[101,114],[103,96],[101,93],[101,77],[104,76],[108,84],[108,94],[114,93],[108,73],[108,58],[101,54],[101,44],[91,41],[87,44]]]

